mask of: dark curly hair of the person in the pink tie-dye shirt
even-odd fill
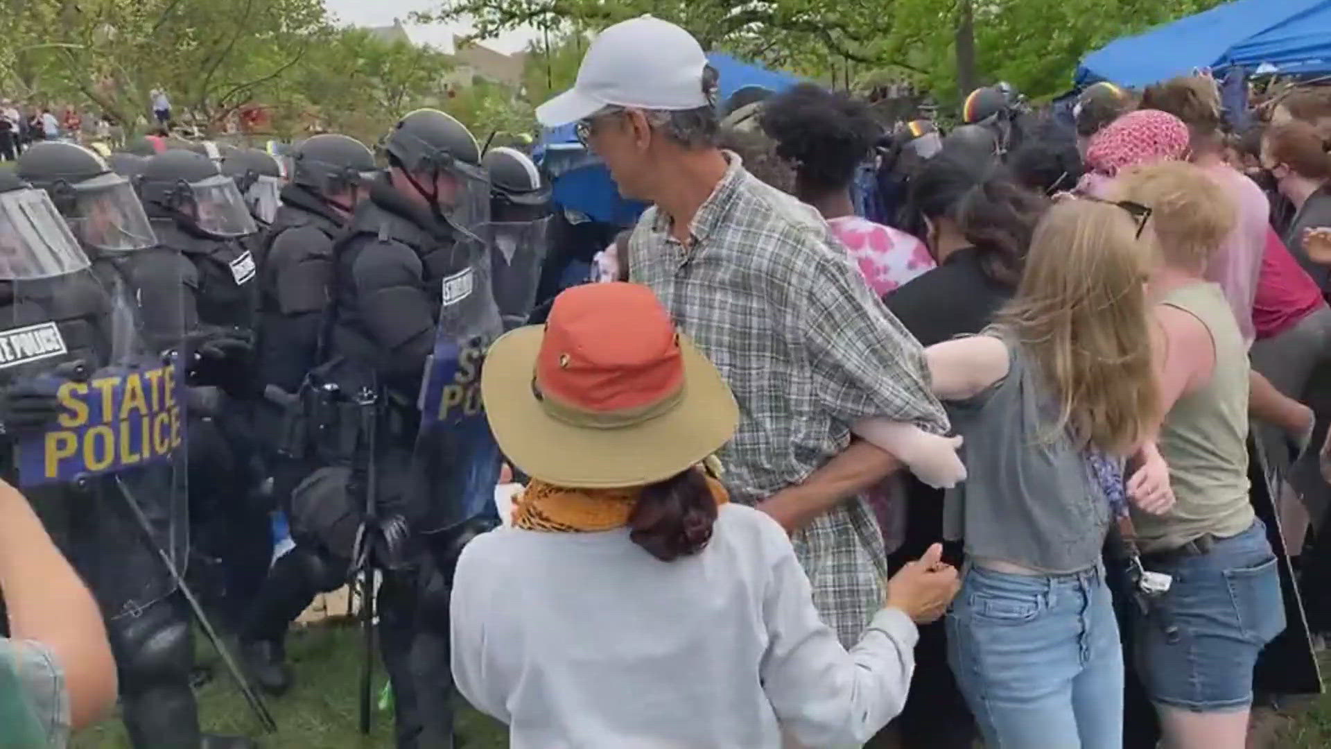
[[[768,99],[759,125],[800,183],[821,193],[845,189],[882,135],[866,103],[812,83]]]

